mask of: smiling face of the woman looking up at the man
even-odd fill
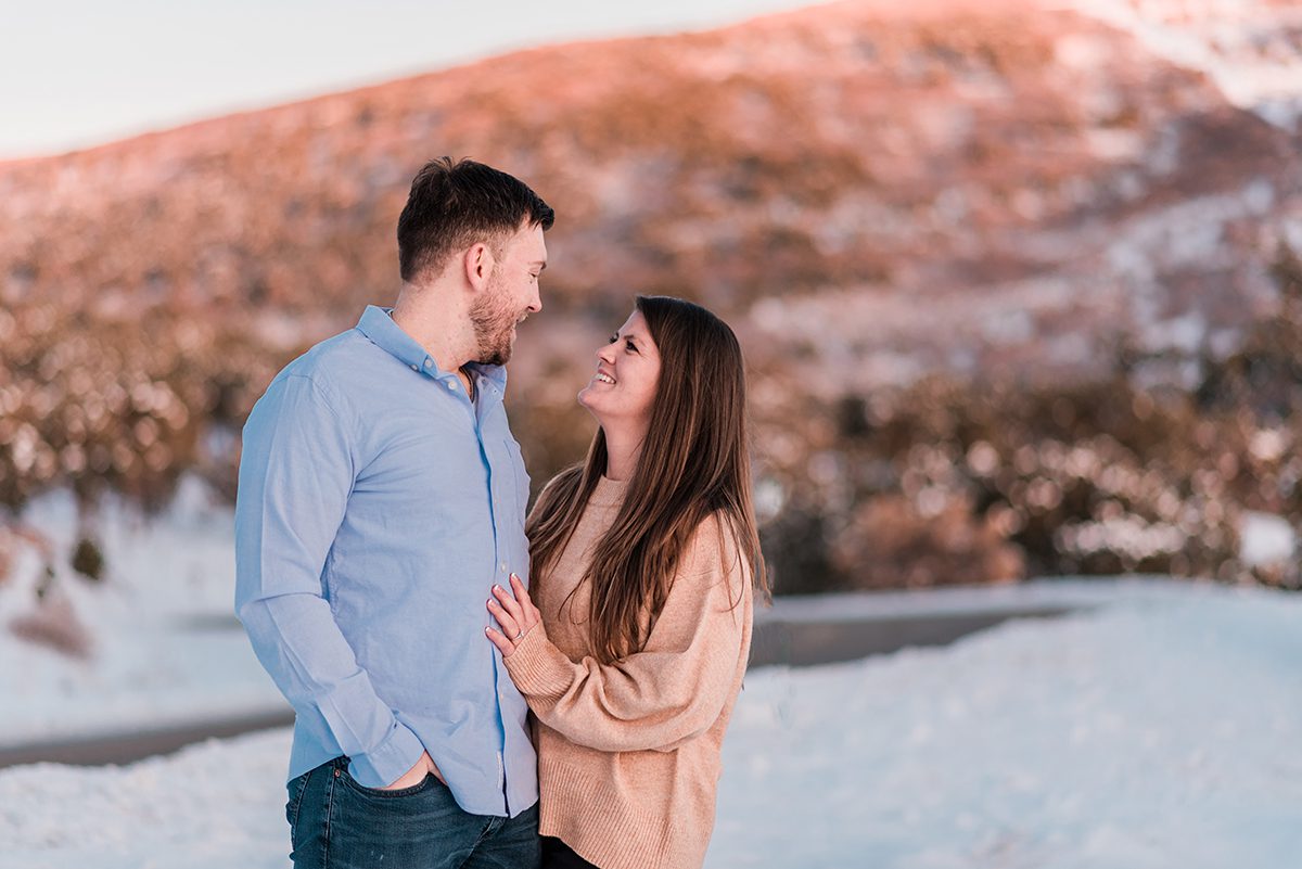
[[[596,372],[578,394],[578,403],[607,429],[629,427],[644,433],[660,380],[660,351],[641,311],[634,311],[604,347],[596,351]]]

